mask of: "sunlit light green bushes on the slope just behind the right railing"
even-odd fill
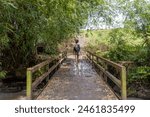
[[[135,60],[135,53],[142,43],[141,38],[127,29],[94,30],[90,33],[85,33],[89,35],[87,48],[113,61]]]

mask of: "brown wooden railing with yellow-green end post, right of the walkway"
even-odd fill
[[[87,52],[87,57],[99,69],[101,76],[106,82],[109,79],[117,87],[119,87],[121,94],[119,95],[115,93],[117,97],[120,99],[127,99],[126,68],[108,59],[97,56],[89,51]],[[116,77],[113,73],[110,72],[109,67],[115,69],[119,73],[119,75],[117,75]]]

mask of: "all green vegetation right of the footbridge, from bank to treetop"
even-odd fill
[[[97,54],[119,63],[130,62],[130,93],[133,93],[133,90],[144,92],[143,89],[150,88],[150,2],[126,2],[120,2],[119,7],[115,8],[116,11],[119,8],[119,12],[124,14],[123,28],[87,31],[83,34],[89,38],[88,48]]]

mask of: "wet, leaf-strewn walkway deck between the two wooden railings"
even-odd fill
[[[84,57],[69,56],[37,100],[116,100],[117,97]]]

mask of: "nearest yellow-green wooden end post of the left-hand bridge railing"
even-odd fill
[[[32,99],[32,72],[30,68],[27,69],[26,95],[28,99]]]

